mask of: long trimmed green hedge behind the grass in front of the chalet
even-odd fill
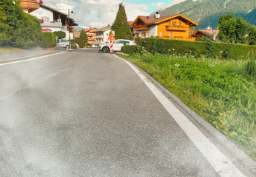
[[[246,59],[245,56],[251,52],[256,52],[256,46],[241,44],[215,43],[212,41],[180,41],[160,38],[144,38],[136,41],[138,46],[144,46],[147,52],[152,53],[175,53],[192,54],[195,56],[209,55],[209,57],[226,59]]]

